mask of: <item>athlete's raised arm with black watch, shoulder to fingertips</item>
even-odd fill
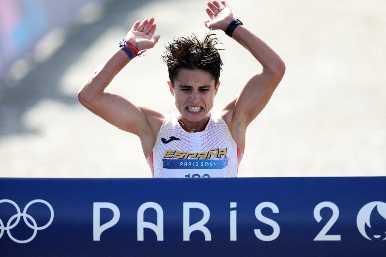
[[[207,3],[206,12],[210,19],[205,26],[212,30],[225,31],[235,20],[227,2]],[[264,109],[285,72],[281,58],[246,26],[239,25],[232,33],[238,43],[246,48],[263,66],[243,86],[240,94],[224,107],[227,122],[236,143],[243,149],[247,126]]]

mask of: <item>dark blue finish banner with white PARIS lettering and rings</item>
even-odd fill
[[[0,178],[0,256],[385,256],[386,177]]]

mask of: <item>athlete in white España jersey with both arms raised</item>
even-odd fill
[[[168,85],[176,113],[163,115],[105,92],[123,67],[158,42],[160,36],[154,35],[157,25],[153,17],[134,23],[121,48],[78,93],[86,108],[140,138],[153,177],[236,177],[246,129],[268,103],[285,72],[281,58],[233,17],[227,2],[208,2],[206,13],[207,28],[224,31],[263,67],[219,112],[211,111],[222,67],[213,34],[203,41],[196,36],[181,37],[166,47],[163,59],[168,66]]]

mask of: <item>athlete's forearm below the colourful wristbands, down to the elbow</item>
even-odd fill
[[[118,49],[108,60],[106,60],[91,75],[86,83],[79,90],[78,97],[81,101],[90,101],[95,96],[103,93],[113,78],[123,67],[130,62],[127,54]]]

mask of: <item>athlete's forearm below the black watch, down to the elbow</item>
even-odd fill
[[[264,71],[278,73],[285,70],[285,64],[280,56],[245,26],[237,26],[233,31],[232,38],[245,47],[261,63]]]

